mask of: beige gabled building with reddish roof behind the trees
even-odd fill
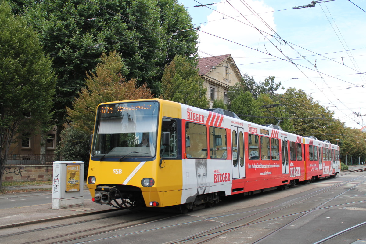
[[[203,79],[203,86],[207,89],[210,108],[215,99],[222,99],[227,103],[228,89],[242,78],[231,54],[201,58],[197,68]]]

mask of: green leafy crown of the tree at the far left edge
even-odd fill
[[[55,74],[37,33],[0,5],[0,186],[10,145],[49,126]]]

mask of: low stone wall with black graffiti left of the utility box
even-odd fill
[[[12,165],[6,166],[3,182],[52,181],[53,165]]]

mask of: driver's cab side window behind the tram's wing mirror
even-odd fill
[[[162,144],[164,132],[169,132],[168,146]],[[164,158],[176,158],[178,156],[178,134],[177,121],[175,119],[163,119],[161,123],[161,138],[160,155]]]

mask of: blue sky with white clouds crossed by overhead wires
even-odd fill
[[[256,82],[275,76],[346,126],[366,126],[366,0],[324,0],[307,8],[293,7],[311,0],[178,1],[194,27],[201,26],[201,58],[231,54]]]

